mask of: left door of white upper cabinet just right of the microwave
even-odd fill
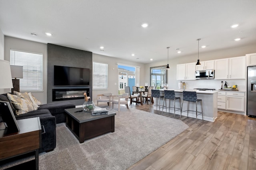
[[[216,59],[214,66],[214,79],[228,79],[228,59]]]

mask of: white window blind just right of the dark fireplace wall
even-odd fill
[[[108,89],[108,64],[93,61],[92,89]]]

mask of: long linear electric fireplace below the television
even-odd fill
[[[89,95],[89,88],[84,89],[52,89],[52,101],[84,99],[84,93]]]

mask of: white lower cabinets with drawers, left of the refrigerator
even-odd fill
[[[218,109],[244,112],[244,92],[218,92]]]

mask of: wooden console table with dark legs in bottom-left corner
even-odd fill
[[[39,117],[17,120],[19,132],[8,133],[0,130],[0,162],[8,158],[14,158],[22,154],[34,152],[35,169],[38,170],[38,154],[41,145],[41,124]],[[4,123],[0,123],[0,129],[4,129]]]

